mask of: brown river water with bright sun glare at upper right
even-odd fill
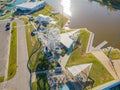
[[[45,1],[68,15],[71,21],[70,28],[87,28],[94,32],[94,46],[106,40],[106,46],[120,48],[120,10],[90,0]]]

